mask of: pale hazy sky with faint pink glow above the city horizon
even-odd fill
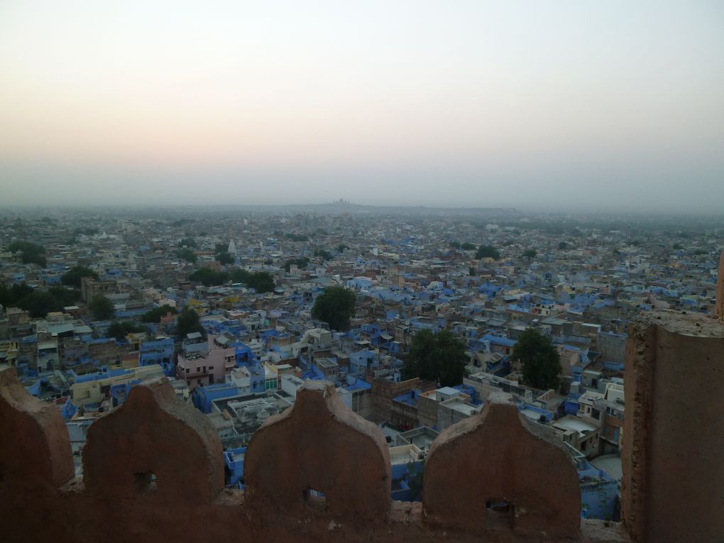
[[[724,213],[724,2],[0,2],[0,204]]]

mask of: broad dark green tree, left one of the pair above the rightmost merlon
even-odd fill
[[[467,361],[465,343],[450,330],[433,333],[424,329],[413,337],[403,364],[403,379],[419,377],[453,387],[463,382]]]

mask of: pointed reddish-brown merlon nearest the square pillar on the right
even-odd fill
[[[581,492],[571,457],[535,431],[510,395],[493,392],[479,415],[442,432],[424,481],[431,523],[472,533],[578,533]],[[496,510],[501,502],[508,511]]]

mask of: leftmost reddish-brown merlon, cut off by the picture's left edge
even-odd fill
[[[55,405],[0,370],[0,487],[56,487],[74,474],[68,431]]]

